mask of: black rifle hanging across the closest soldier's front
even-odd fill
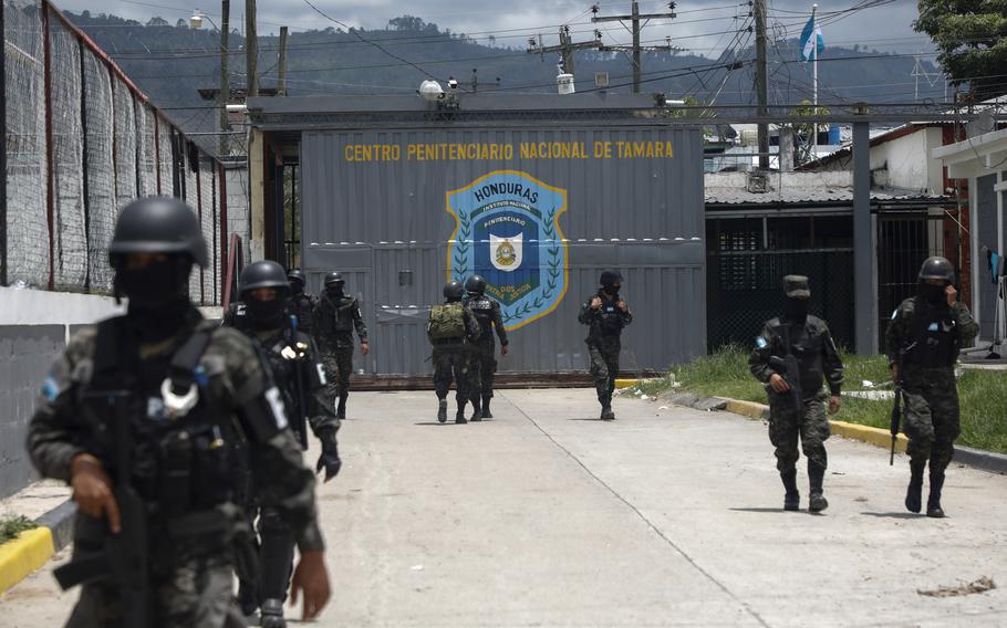
[[[96,391],[94,396],[107,399],[115,421],[114,494],[122,514],[122,531],[106,532],[102,552],[74,557],[55,569],[54,576],[63,590],[79,584],[114,580],[122,596],[124,625],[152,626],[147,507],[131,483],[133,440],[128,402],[133,396],[125,390]]]

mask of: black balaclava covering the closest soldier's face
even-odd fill
[[[191,260],[179,257],[116,270],[115,293],[129,300],[126,318],[141,342],[160,342],[181,329],[193,310],[186,294],[191,270]]]

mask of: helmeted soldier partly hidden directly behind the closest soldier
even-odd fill
[[[249,317],[245,334],[269,365],[298,441],[307,448],[308,426],[321,441],[316,471],[324,469],[328,482],[342,467],[335,438],[340,422],[325,400],[325,380],[322,366],[315,359],[314,342],[304,332],[297,331],[291,321],[291,291],[283,268],[271,261],[251,263],[241,272],[240,286]],[[242,613],[249,616],[260,606],[259,626],[284,628],[283,601],[293,559],[293,531],[276,507],[259,509],[253,501],[242,505],[247,505],[252,520],[258,511],[260,538],[258,583],[250,580],[247,574],[238,574]]]

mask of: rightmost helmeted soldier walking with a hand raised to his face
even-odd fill
[[[910,485],[905,507],[923,509],[923,472],[930,461],[926,515],[944,516],[941,490],[962,432],[955,360],[979,331],[952,285],[955,271],[944,258],[930,258],[920,269],[920,294],[892,313],[885,347],[892,377],[902,384],[903,430],[909,437]]]

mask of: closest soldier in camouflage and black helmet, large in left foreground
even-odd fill
[[[108,250],[127,313],[71,339],[43,383],[28,450],[43,477],[73,488],[72,564],[101,554],[118,564],[110,535],[134,538],[145,523],[135,551],[146,547],[148,567],[131,559],[120,567],[128,576],[93,567],[94,579],[76,580],[86,583],[68,626],[245,625],[231,597],[231,542],[246,523],[230,501],[238,431],[251,442],[260,500],[295,532],[293,588],[304,616],[316,616],[329,580],[314,477],[249,341],[204,321],[187,296],[193,263],[207,264],[195,214],[176,199],[134,201]],[[126,605],[145,597],[135,593],[149,606]]]

